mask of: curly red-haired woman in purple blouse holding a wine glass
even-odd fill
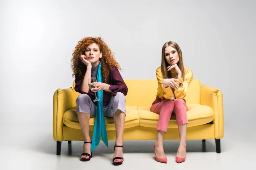
[[[113,52],[100,37],[82,39],[73,51],[72,70],[76,82],[75,91],[81,93],[76,99],[76,113],[84,136],[82,161],[90,160],[101,136],[108,146],[104,117],[113,117],[116,127],[113,164],[120,165],[123,162],[122,135],[126,113],[125,95],[128,88],[118,71],[120,69]],[[93,87],[90,89],[88,79],[91,77],[96,77],[97,82],[93,82]],[[93,102],[96,92],[100,100]],[[96,117],[92,140],[89,136],[90,117]]]

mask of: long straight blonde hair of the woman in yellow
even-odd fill
[[[184,70],[184,65],[183,65],[182,52],[180,50],[180,46],[174,41],[166,42],[162,47],[161,72],[162,72],[163,78],[164,79],[174,78],[174,77],[172,77],[171,71],[167,71],[167,67],[168,67],[169,63],[166,61],[164,51],[165,51],[165,48],[168,46],[175,48],[175,50],[177,51],[177,53],[179,55],[179,62],[177,63],[177,65],[180,68],[181,75],[183,78],[185,75],[185,70]]]

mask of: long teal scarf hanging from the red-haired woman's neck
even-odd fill
[[[99,63],[97,80],[98,82],[102,82],[101,63]],[[104,111],[103,111],[103,90],[97,92],[97,97],[100,100],[97,102],[97,112],[96,112],[96,118],[94,122],[91,151],[93,151],[98,146],[100,142],[100,136],[102,136],[102,141],[108,147],[108,136],[107,136],[107,130],[106,130],[106,124],[105,124],[105,118],[104,118]]]

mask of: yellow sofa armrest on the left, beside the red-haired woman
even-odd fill
[[[59,89],[53,95],[53,139],[55,141],[63,140],[63,115],[70,108],[74,107],[73,103],[74,92],[73,89]]]

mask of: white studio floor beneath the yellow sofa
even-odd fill
[[[225,127],[221,140],[221,153],[215,151],[215,141],[187,141],[186,161],[177,164],[175,156],[178,141],[164,141],[168,163],[155,161],[154,141],[124,141],[124,163],[113,166],[114,142],[109,147],[101,142],[88,162],[79,160],[81,141],[62,142],[61,156],[56,156],[56,142],[52,138],[51,124],[2,124],[0,125],[0,170],[175,170],[175,169],[246,169],[254,168],[255,132],[251,135]]]

